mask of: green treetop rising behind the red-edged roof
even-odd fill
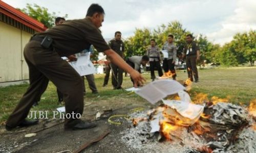
[[[18,10],[45,24],[48,28],[52,28],[54,26],[54,21],[57,17],[55,12],[49,13],[47,8],[40,7],[36,4],[33,6],[31,4],[27,4],[26,8]],[[64,18],[67,17],[68,14],[65,14]]]

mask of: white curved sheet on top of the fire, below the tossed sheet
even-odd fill
[[[175,109],[180,115],[189,119],[197,119],[204,111],[204,106],[187,103],[181,100],[162,100],[170,108]]]

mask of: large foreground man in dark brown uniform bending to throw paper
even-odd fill
[[[46,32],[33,36],[24,48],[24,57],[29,67],[30,86],[20,99],[19,104],[9,116],[6,129],[16,126],[29,126],[38,120],[28,121],[30,108],[38,95],[50,80],[63,93],[66,108],[65,129],[79,130],[96,126],[95,123],[84,122],[80,119],[83,113],[82,80],[75,69],[63,56],[70,56],[89,49],[90,45],[99,52],[104,52],[109,59],[120,68],[129,72],[135,85],[143,84],[145,79],[140,73],[126,64],[123,59],[104,41],[99,27],[104,20],[104,10],[98,4],[92,4],[84,19],[70,20]],[[68,117],[72,115],[72,117]]]

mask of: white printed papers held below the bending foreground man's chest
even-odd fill
[[[69,64],[80,74],[80,76],[96,73],[93,63],[90,61],[90,53],[77,57],[77,61]]]

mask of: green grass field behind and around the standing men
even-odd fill
[[[157,73],[156,73],[157,74]],[[147,83],[151,82],[150,73],[143,73]],[[177,80],[186,80],[187,73],[183,70],[177,71]],[[115,101],[115,105],[123,101],[133,101],[147,105],[147,102],[136,94],[127,94],[122,90],[113,90],[111,80],[107,87],[102,87],[103,74],[95,75],[95,82],[99,94],[92,94],[86,82],[87,94],[85,101],[106,100],[109,103]],[[212,96],[229,98],[230,103],[248,105],[251,99],[256,98],[256,67],[237,67],[237,68],[215,68],[199,70],[199,83],[194,83],[190,91],[191,97],[198,93],[205,93],[210,99]],[[123,87],[131,87],[130,77],[124,77]],[[0,123],[4,123],[9,114],[17,105],[20,97],[25,93],[28,84],[2,87],[0,88]],[[122,98],[120,98],[122,97]],[[134,103],[134,102],[133,102]],[[133,105],[132,103],[129,105]],[[148,104],[149,105],[149,104]],[[61,105],[58,104],[56,87],[49,83],[46,92],[42,95],[39,105],[32,110],[55,110]]]

